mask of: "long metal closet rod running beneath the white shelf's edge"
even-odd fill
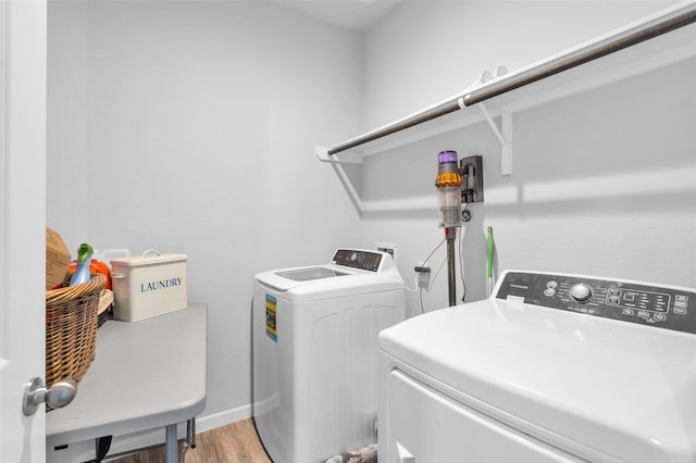
[[[405,130],[433,118],[444,116],[445,114],[471,107],[472,104],[480,103],[497,97],[498,95],[524,87],[525,85],[533,84],[563,71],[580,66],[581,64],[588,63],[616,51],[623,50],[624,48],[661,36],[662,34],[667,34],[680,27],[687,26],[694,22],[696,22],[696,3],[689,3],[688,5],[674,10],[664,16],[641,24],[634,28],[623,30],[616,36],[591,43],[585,48],[572,51],[538,66],[531,67],[526,71],[490,83],[489,85],[472,90],[469,93],[458,96],[451,100],[421,111],[420,113],[344,141],[343,143],[335,145],[328,149],[327,154],[336,154],[397,132]]]

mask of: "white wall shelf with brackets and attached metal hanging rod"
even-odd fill
[[[642,36],[639,41],[631,42],[638,35],[647,38]],[[478,82],[447,100],[343,143],[316,147],[315,154],[320,161],[333,163],[341,182],[349,185],[343,163],[360,163],[362,157],[487,121],[500,141],[501,175],[510,175],[512,115],[515,112],[696,58],[695,43],[696,0],[691,0],[513,73]],[[599,55],[595,55],[597,53]],[[569,66],[569,63],[573,65]],[[360,213],[369,207],[361,203],[355,189],[351,197]]]

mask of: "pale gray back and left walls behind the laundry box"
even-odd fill
[[[359,37],[220,1],[51,1],[49,34],[48,225],[71,250],[187,253],[203,415],[244,412],[254,273],[359,245],[313,153],[359,128]]]

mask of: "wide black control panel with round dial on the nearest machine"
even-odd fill
[[[696,334],[696,290],[619,279],[508,272],[497,299]]]

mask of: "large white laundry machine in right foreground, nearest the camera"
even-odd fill
[[[696,461],[696,290],[506,272],[380,335],[378,461]]]

